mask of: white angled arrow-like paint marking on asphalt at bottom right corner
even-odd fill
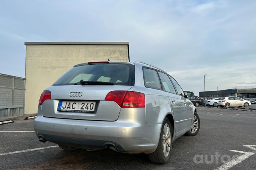
[[[239,156],[239,157],[236,157],[234,160],[231,160],[219,167],[217,167],[216,169],[214,170],[227,170],[233,166],[235,166],[236,164],[239,164],[241,163],[243,160],[245,160],[246,158],[250,157],[251,155],[254,155],[255,153],[254,152],[243,152],[243,151],[236,151],[236,150],[230,150],[232,152],[239,152],[239,153],[242,153],[243,155]]]

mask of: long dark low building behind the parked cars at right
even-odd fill
[[[256,98],[256,89],[226,89],[218,91],[199,92],[199,96],[217,97],[217,96],[236,96],[239,98]]]

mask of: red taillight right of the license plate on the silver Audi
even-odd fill
[[[105,101],[114,101],[122,108],[145,107],[145,95],[133,91],[111,91],[107,94]]]

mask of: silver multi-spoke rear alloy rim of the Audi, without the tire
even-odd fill
[[[170,132],[170,127],[169,124],[164,125],[163,129],[163,152],[164,156],[168,157],[171,149],[171,132]]]

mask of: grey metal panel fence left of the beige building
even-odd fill
[[[25,78],[0,74],[0,119],[24,115]]]

